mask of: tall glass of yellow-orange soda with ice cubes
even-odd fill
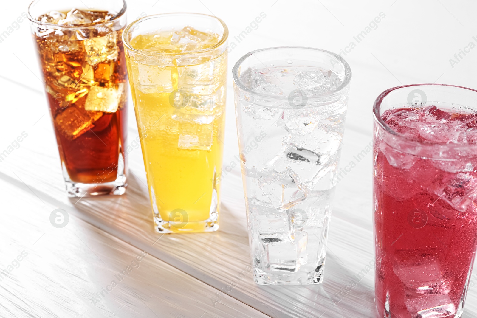
[[[124,31],[129,82],[156,230],[218,229],[228,29],[168,13]]]

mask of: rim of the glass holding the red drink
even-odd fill
[[[379,111],[381,109],[381,103],[383,103],[384,99],[387,97],[387,95],[389,95],[389,93],[394,92],[394,91],[399,90],[399,89],[407,88],[407,87],[421,87],[421,86],[455,87],[455,88],[458,88],[458,89],[464,89],[464,90],[468,90],[468,91],[472,91],[472,92],[477,93],[477,90],[474,90],[472,88],[468,88],[468,87],[464,87],[464,86],[457,86],[457,85],[449,85],[449,84],[435,84],[435,83],[432,83],[432,84],[411,84],[411,85],[396,86],[396,87],[387,89],[384,92],[382,92],[381,94],[379,94],[379,96],[374,101],[374,105],[373,105],[374,122],[379,124],[379,126],[382,129],[384,129],[384,131],[386,133],[391,133],[392,135],[394,135],[394,136],[396,136],[400,139],[404,139],[405,141],[408,141],[410,143],[417,143],[417,144],[423,144],[423,145],[429,145],[429,146],[432,146],[432,145],[437,146],[438,145],[438,146],[447,146],[447,147],[455,147],[455,148],[458,148],[458,147],[476,147],[476,145],[469,145],[469,144],[443,144],[443,143],[427,142],[427,141],[426,142],[420,142],[420,141],[418,141],[414,138],[406,137],[403,134],[394,131],[391,127],[388,126],[387,123],[384,122],[383,117],[381,116]]]

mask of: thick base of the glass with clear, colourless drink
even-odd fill
[[[278,274],[267,273],[260,268],[254,269],[253,279],[259,285],[317,285],[323,282],[324,262],[309,273]]]

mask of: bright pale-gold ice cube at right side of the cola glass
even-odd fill
[[[115,113],[118,110],[123,90],[124,83],[119,83],[117,88],[92,86],[84,103],[84,109],[87,111]]]

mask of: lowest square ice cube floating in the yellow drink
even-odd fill
[[[179,149],[210,150],[213,140],[213,124],[179,122]]]

